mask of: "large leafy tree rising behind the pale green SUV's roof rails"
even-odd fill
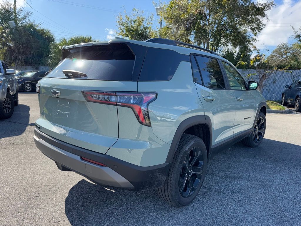
[[[273,6],[273,1],[172,0],[161,13],[166,26],[160,35],[213,51],[225,46],[247,49],[265,27],[262,21]]]

